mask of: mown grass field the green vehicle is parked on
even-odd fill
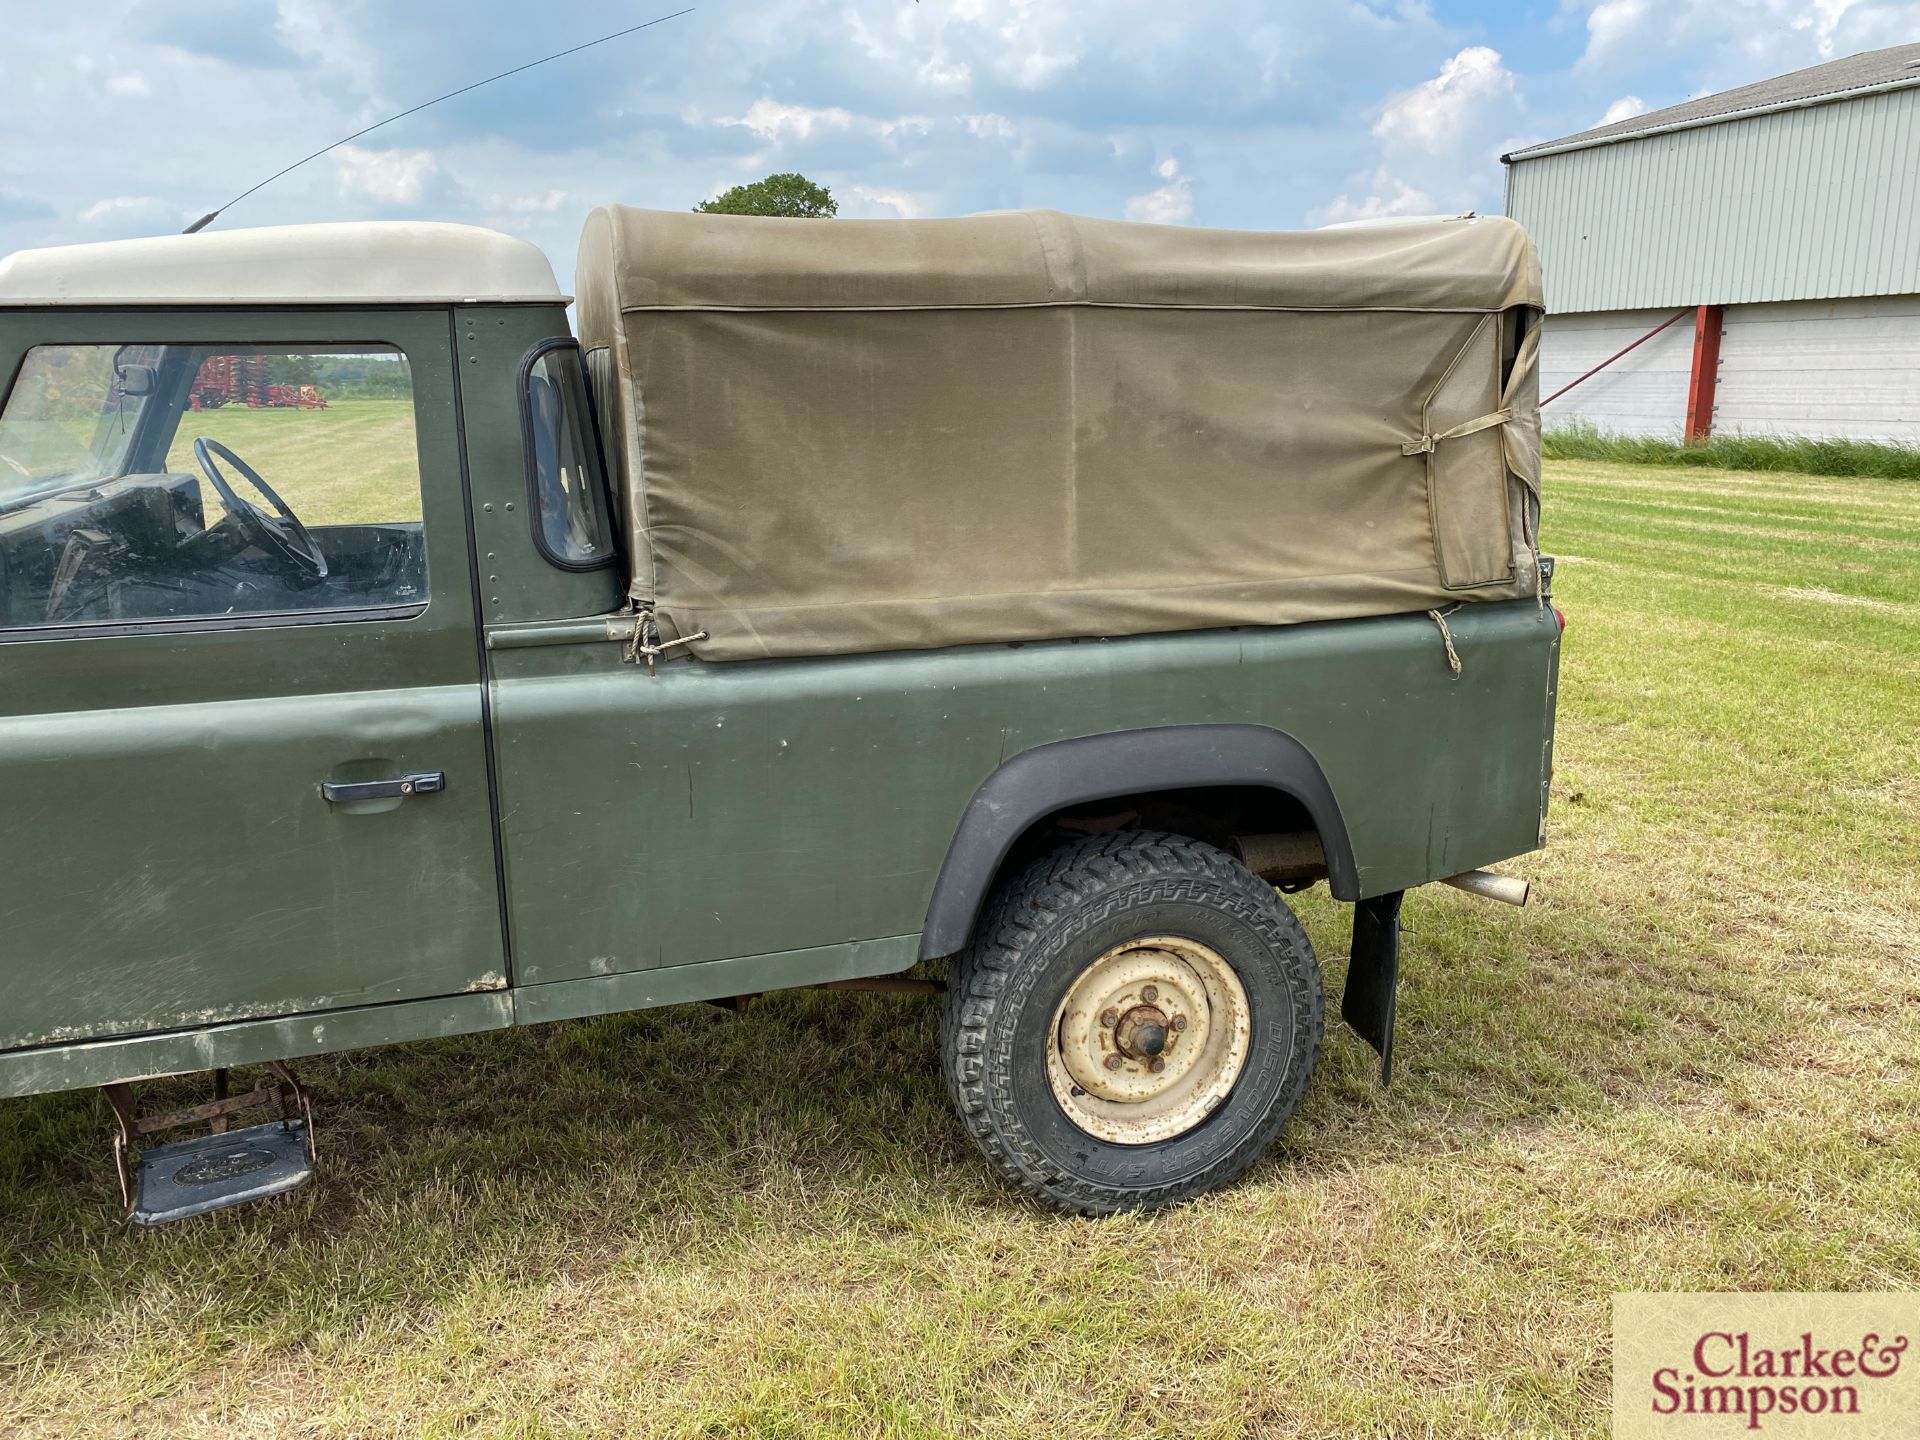
[[[6,1102],[0,1432],[1605,1434],[1615,1290],[1914,1286],[1920,486],[1548,495],[1536,904],[1409,897],[1394,1087],[1332,1029],[1240,1185],[1041,1213],[826,993],[309,1064],[323,1179],[148,1235]]]

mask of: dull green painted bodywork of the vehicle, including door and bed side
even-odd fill
[[[1540,843],[1559,630],[1425,616],[630,664],[614,568],[528,528],[557,305],[0,311],[35,344],[399,346],[430,601],[0,632],[0,1094],[858,979],[916,956],[968,801],[1033,745],[1221,720],[1317,758],[1363,895]],[[442,770],[330,806],[326,780]]]

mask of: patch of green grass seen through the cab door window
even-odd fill
[[[336,399],[324,411],[223,405],[182,415],[169,470],[200,474],[200,436],[219,440],[259,470],[307,524],[420,518],[411,399]],[[253,497],[244,480],[228,478],[242,499]],[[219,497],[205,482],[200,490],[211,522],[221,513]]]

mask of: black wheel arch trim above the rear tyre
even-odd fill
[[[1043,816],[1069,804],[1156,789],[1252,785],[1300,801],[1319,829],[1327,887],[1359,899],[1346,820],[1319,760],[1271,726],[1154,726],[1035,745],[1004,760],[968,801],[947,847],[920,931],[920,958],[968,943],[1006,852]]]

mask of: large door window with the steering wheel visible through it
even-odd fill
[[[0,407],[0,628],[424,603],[397,349],[27,353]]]

